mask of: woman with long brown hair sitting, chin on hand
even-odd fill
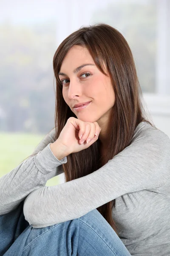
[[[82,27],[53,64],[56,127],[0,179],[0,255],[170,255],[170,140],[144,115],[127,41]]]

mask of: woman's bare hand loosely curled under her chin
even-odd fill
[[[70,117],[57,140],[71,154],[90,147],[98,140],[101,129],[97,122],[84,122],[80,119]],[[87,141],[88,139],[90,139],[89,142]]]

